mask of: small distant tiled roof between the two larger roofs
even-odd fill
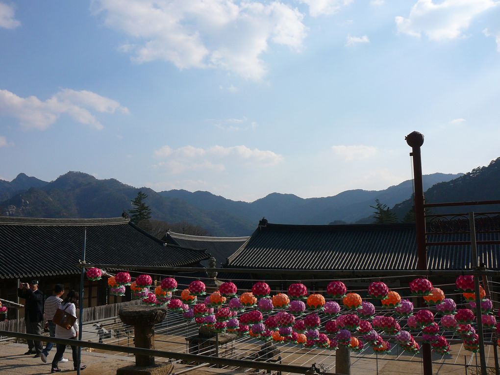
[[[165,236],[167,243],[174,243],[179,246],[199,248],[209,252],[217,259],[217,267],[224,264],[227,258],[232,255],[245,241],[246,237],[210,237],[203,235],[182,234],[168,231]],[[203,266],[208,265],[208,261],[201,262]]]

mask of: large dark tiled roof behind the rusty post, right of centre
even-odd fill
[[[429,235],[428,241],[463,241],[468,234]],[[477,240],[500,233],[477,233]],[[429,269],[470,268],[470,246],[429,246]],[[480,261],[500,268],[500,245],[478,245]],[[229,257],[229,267],[286,269],[416,269],[415,224],[258,226]]]

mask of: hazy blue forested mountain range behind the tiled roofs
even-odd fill
[[[466,174],[433,173],[423,176],[425,197],[431,201],[498,199],[500,158]],[[411,208],[411,180],[383,190],[347,190],[339,194],[301,198],[273,192],[253,202],[235,201],[208,191],[156,192],[116,179],[97,179],[82,172],[67,172],[53,181],[20,173],[12,181],[0,180],[0,214],[30,217],[116,217],[130,209],[141,190],[148,197],[152,218],[187,221],[213,235],[250,234],[265,216],[274,223],[327,224],[370,222],[375,199],[393,207],[401,219]],[[463,210],[463,209],[462,209]]]

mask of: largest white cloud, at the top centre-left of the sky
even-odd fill
[[[137,63],[169,61],[179,69],[219,68],[260,79],[269,43],[299,50],[303,15],[279,1],[96,0],[96,14],[135,43],[120,49]]]

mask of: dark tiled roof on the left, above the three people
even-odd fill
[[[85,227],[87,263],[184,266],[210,256],[199,249],[165,245],[121,217],[0,217],[0,278],[79,272],[75,264],[81,258]]]

